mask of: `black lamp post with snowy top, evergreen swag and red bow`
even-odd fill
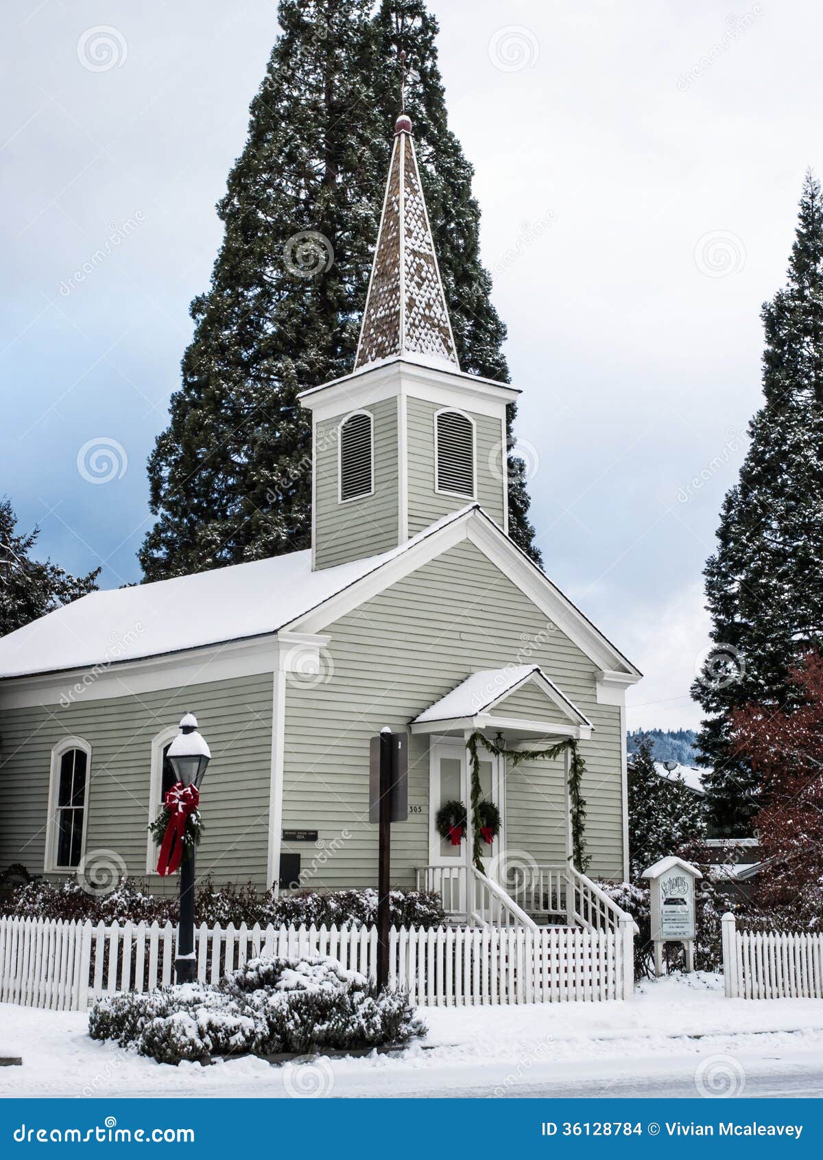
[[[177,983],[195,979],[195,847],[199,846],[201,783],[211,759],[205,739],[197,731],[197,718],[185,713],[180,733],[168,747],[168,760],[175,784],[167,791],[156,820],[150,827],[160,846],[158,873],[173,875],[180,868],[180,916],[177,921],[177,956],[174,974]]]

